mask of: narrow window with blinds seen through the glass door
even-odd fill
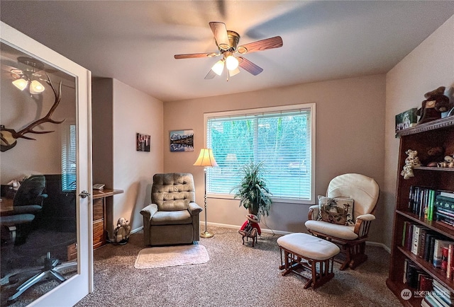
[[[77,145],[76,125],[68,124],[62,135],[62,191],[76,190]]]

